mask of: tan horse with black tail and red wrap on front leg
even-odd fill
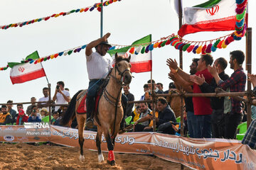
[[[119,125],[121,123],[124,111],[121,103],[122,96],[122,86],[128,85],[132,81],[132,74],[130,72],[131,64],[129,64],[129,58],[123,58],[115,55],[115,65],[110,73],[110,80],[103,90],[103,94],[100,97],[98,113],[94,114],[95,125],[97,125],[97,136],[96,136],[96,146],[98,151],[98,161],[103,162],[104,157],[100,148],[102,142],[102,132],[105,135],[107,141],[107,149],[109,150],[107,163],[114,165],[114,140],[119,132]],[[66,111],[63,116],[63,125],[68,124],[69,120],[76,118],[78,120],[78,134],[79,134],[79,144],[80,144],[80,161],[83,161],[85,157],[83,156],[83,130],[85,129],[86,114],[78,114],[77,108],[84,91],[78,91],[75,96],[73,96],[70,101],[70,106],[68,106],[68,111]],[[77,101],[77,98],[78,99]]]

